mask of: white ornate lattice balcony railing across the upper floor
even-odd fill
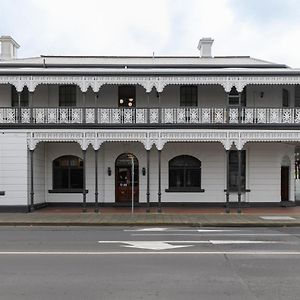
[[[0,108],[0,124],[300,124],[300,108]]]

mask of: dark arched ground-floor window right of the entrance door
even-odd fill
[[[201,189],[201,161],[189,155],[176,156],[169,161],[169,190]]]

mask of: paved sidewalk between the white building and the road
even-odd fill
[[[94,213],[88,208],[44,208],[33,213],[1,213],[0,226],[237,226],[272,227],[300,226],[300,207],[244,208],[241,214],[223,208],[163,208],[157,213],[151,208],[100,208]]]

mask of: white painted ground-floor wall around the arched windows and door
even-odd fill
[[[280,202],[281,162],[284,156],[291,161],[290,200],[294,200],[294,146],[280,143],[249,143],[246,149],[246,187],[251,190],[243,201]],[[139,161],[139,202],[146,202],[146,180],[142,168],[146,165],[146,150],[140,143],[104,143],[99,151],[99,201],[115,202],[115,160],[122,153],[133,153]],[[177,155],[192,155],[202,162],[204,193],[168,193],[168,162]],[[34,152],[35,203],[82,202],[81,194],[52,194],[52,162],[62,155],[82,157],[76,143],[41,143]],[[87,150],[87,202],[94,202],[94,150]],[[162,151],[162,202],[224,202],[226,187],[225,150],[218,143],[168,143]],[[2,205],[27,205],[30,184],[30,165],[23,133],[0,135],[0,197]],[[108,176],[108,167],[112,175]],[[150,152],[150,197],[157,202],[158,161],[155,147]],[[231,195],[231,201],[237,195]],[[0,204],[0,205],[1,205]]]

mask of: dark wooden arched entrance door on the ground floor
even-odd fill
[[[116,159],[117,203],[131,203],[132,201],[132,162],[134,164],[134,202],[139,200],[139,162],[133,154],[124,153]]]

